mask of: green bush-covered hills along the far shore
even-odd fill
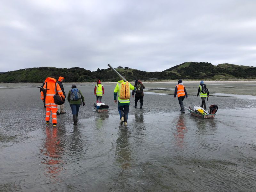
[[[128,81],[141,80],[175,80],[175,79],[256,79],[256,68],[233,64],[214,66],[208,62],[185,62],[162,72],[146,72],[131,68],[116,68]],[[120,78],[110,68],[90,71],[84,68],[39,67],[10,71],[0,74],[2,83],[40,83],[47,77],[65,77],[64,82],[116,82]]]

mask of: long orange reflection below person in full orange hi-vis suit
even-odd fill
[[[46,175],[50,178],[56,178],[60,175],[63,169],[62,151],[63,147],[60,144],[57,127],[46,127],[45,129],[46,139],[44,143],[44,149],[41,153],[44,154],[42,164],[45,164],[44,168]]]

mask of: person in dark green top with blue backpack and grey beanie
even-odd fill
[[[84,96],[83,96],[82,92],[76,88],[75,84],[72,84],[71,90],[69,90],[69,92],[68,92],[68,102],[71,107],[74,125],[77,125],[78,112],[79,112],[79,108],[81,105],[81,100],[82,100],[83,106],[84,106],[85,103],[84,103]]]

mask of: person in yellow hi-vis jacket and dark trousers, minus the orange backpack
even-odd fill
[[[124,77],[125,78],[125,77]],[[128,82],[125,82],[123,79],[117,82],[115,90],[114,90],[114,101],[117,103],[116,97],[118,93],[118,111],[120,116],[120,124],[127,125],[128,121],[128,113],[129,113],[129,105],[130,105],[130,98],[129,99],[120,99],[120,89],[122,84],[127,86]],[[130,90],[134,90],[134,86],[129,83]]]

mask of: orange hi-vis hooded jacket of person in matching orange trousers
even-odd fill
[[[55,95],[55,83],[57,82],[56,79],[52,78],[52,77],[47,77],[45,79],[45,84],[43,88],[46,88],[46,83],[47,83],[47,89],[50,90],[46,90],[46,96],[45,96],[45,106],[57,106],[54,103],[54,99],[53,96]],[[59,93],[59,95],[63,95],[63,92],[60,89],[60,85],[57,85],[57,92]],[[41,92],[41,100],[44,100],[44,93]]]

